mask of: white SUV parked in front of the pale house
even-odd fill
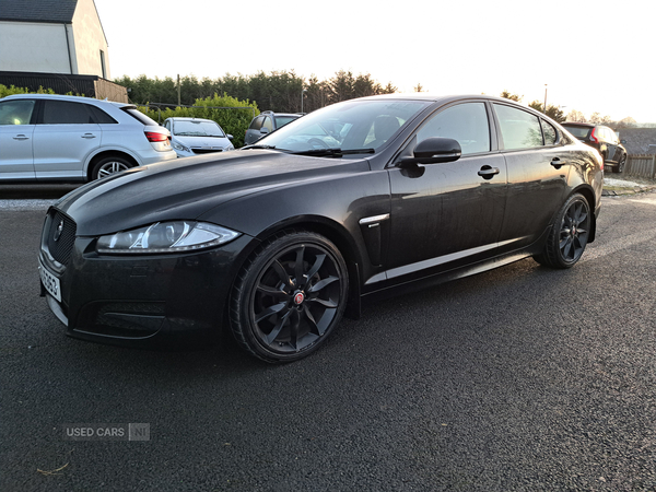
[[[176,159],[171,133],[136,106],[89,97],[0,99],[0,181],[87,181]]]

